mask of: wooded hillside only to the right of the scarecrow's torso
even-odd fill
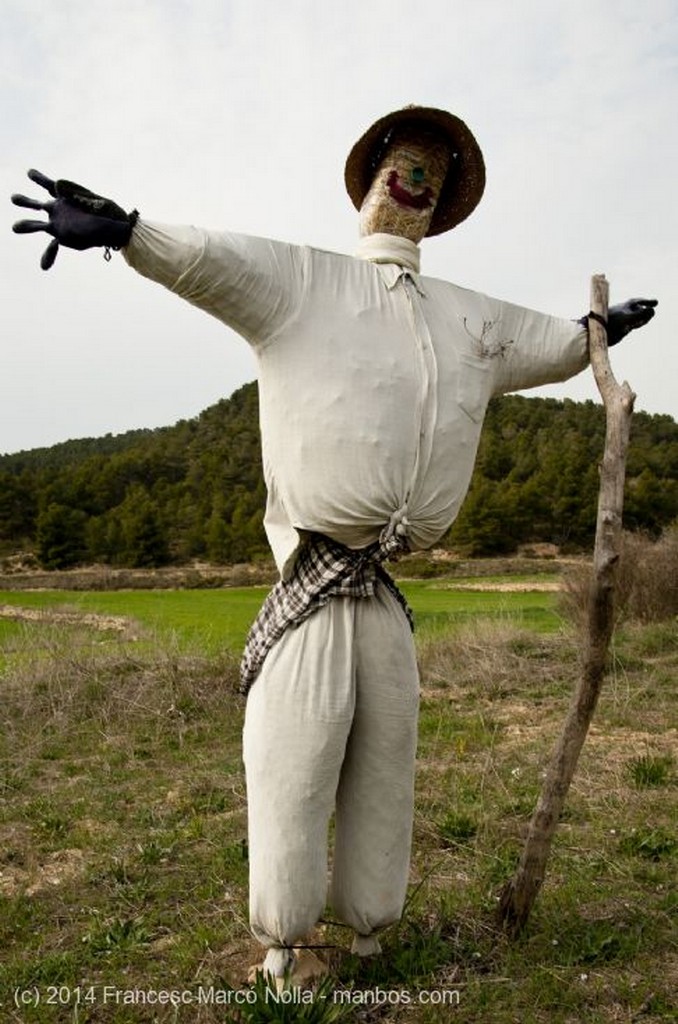
[[[449,535],[466,554],[518,545],[590,548],[605,413],[593,402],[506,395],[491,402],[471,488]],[[624,525],[659,537],[678,517],[678,424],[636,413],[627,461]]]

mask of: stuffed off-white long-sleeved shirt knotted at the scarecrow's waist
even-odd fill
[[[139,220],[125,257],[256,353],[264,524],[284,579],[306,531],[434,545],[468,489],[490,398],[588,362],[580,325],[421,276],[418,247],[390,236],[356,258]]]

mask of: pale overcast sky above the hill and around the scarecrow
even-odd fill
[[[29,167],[142,216],[351,252],[348,150],[409,102],[467,122],[488,186],[424,273],[558,315],[659,312],[612,353],[678,419],[677,0],[0,0],[0,453],[198,415],[246,344],[120,255],[14,236]],[[590,371],[542,395],[598,400]]]

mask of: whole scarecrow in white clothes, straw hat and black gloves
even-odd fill
[[[345,169],[353,256],[125,213],[30,171],[48,221],[14,230],[121,249],[130,266],[234,329],[258,362],[265,528],[280,582],[245,650],[250,915],[263,970],[300,968],[328,899],[378,953],[410,865],[419,682],[412,616],[383,562],[430,548],[471,478],[493,395],[565,380],[588,362],[587,317],[560,319],[422,276],[419,243],[484,188],[480,148],[454,115],[377,121]],[[655,300],[609,310],[610,344]]]

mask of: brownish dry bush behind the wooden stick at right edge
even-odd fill
[[[580,627],[587,622],[591,565],[579,566],[563,581],[560,611]],[[678,615],[678,524],[659,541],[623,534],[616,581],[617,611],[640,622],[666,622]]]

